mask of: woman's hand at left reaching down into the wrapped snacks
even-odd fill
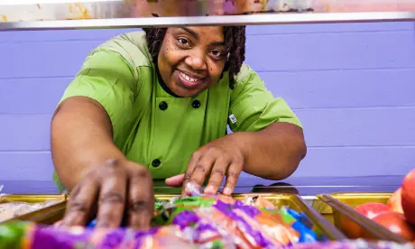
[[[132,161],[109,160],[88,171],[71,191],[60,226],[86,226],[96,217],[96,227],[115,228],[126,216],[128,227],[147,229],[153,211],[150,172]]]

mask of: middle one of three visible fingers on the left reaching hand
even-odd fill
[[[101,180],[97,227],[115,228],[120,226],[124,215],[127,186],[126,171],[120,168],[118,161],[106,163],[103,171],[107,171]]]

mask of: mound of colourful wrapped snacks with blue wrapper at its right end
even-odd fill
[[[238,248],[275,248],[286,244],[317,241],[317,235],[302,224],[288,208],[275,208],[263,198],[244,201],[226,196],[193,196],[172,201],[174,208],[161,212],[155,220],[160,226],[175,225],[191,229],[190,240],[206,244],[218,238],[231,238]],[[188,233],[189,235],[189,233]]]

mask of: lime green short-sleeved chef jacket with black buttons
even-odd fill
[[[195,97],[171,96],[159,78],[145,32],[125,33],[88,54],[60,102],[82,96],[104,106],[116,147],[130,161],[148,167],[155,180],[185,172],[191,153],[226,135],[227,124],[233,132],[259,131],[274,122],[301,125],[246,64],[234,89],[225,72]],[[64,189],[56,172],[53,180]]]

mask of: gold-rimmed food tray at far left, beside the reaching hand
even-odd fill
[[[0,197],[0,204],[2,203],[10,203],[10,202],[27,202],[27,203],[42,203],[44,201],[48,200],[58,200],[61,199],[61,201],[57,204],[51,205],[47,208],[41,208],[38,210],[35,210],[33,212],[26,213],[19,217],[14,217],[12,219],[4,220],[1,223],[8,222],[10,220],[32,220],[37,222],[38,220],[42,220],[45,224],[52,224],[55,222],[54,219],[49,219],[48,216],[45,216],[45,214],[48,213],[55,213],[56,210],[60,208],[65,208],[66,201],[68,199],[67,195],[2,195]],[[0,223],[0,224],[1,224]]]

